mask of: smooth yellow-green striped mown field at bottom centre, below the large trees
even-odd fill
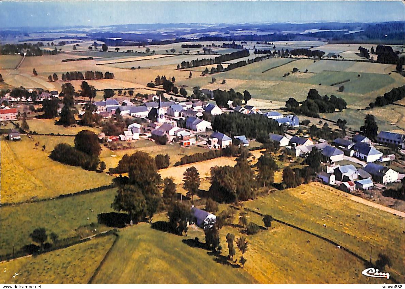
[[[190,229],[191,231],[191,229]],[[189,232],[190,232],[189,231]],[[151,229],[147,223],[119,232],[119,239],[93,283],[245,284],[255,280],[241,268],[221,265],[204,249],[188,246],[187,237]]]

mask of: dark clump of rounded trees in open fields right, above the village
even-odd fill
[[[335,110],[342,111],[347,106],[343,98],[334,95],[320,96],[316,89],[309,89],[307,99],[301,104],[294,98],[286,101],[286,108],[293,113],[319,118],[319,113],[333,113]]]

